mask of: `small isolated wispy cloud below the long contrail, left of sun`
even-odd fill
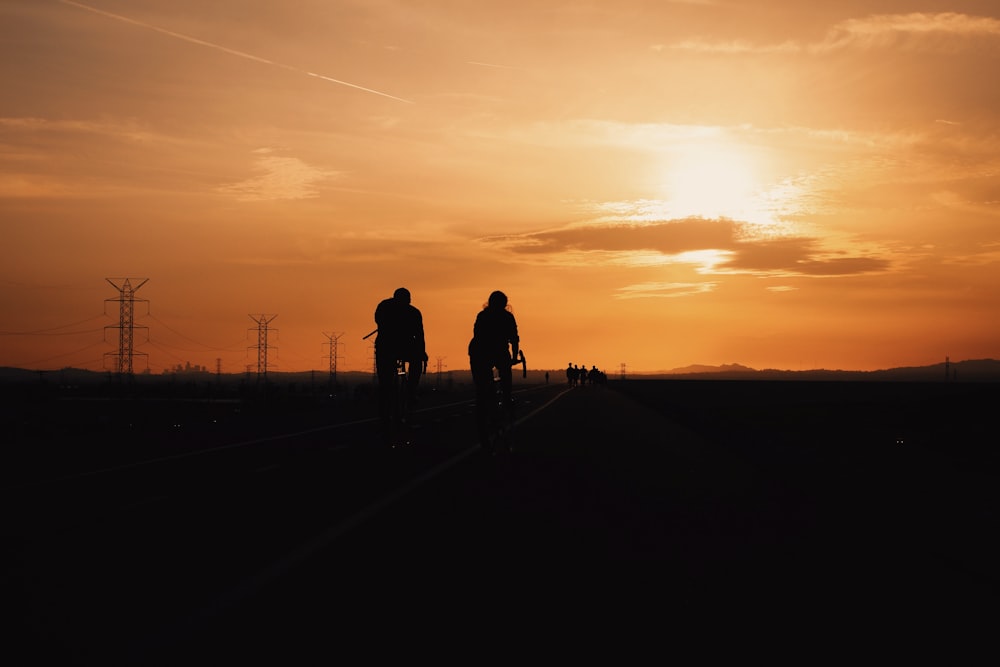
[[[272,201],[279,199],[308,199],[319,195],[319,185],[340,175],[313,167],[294,157],[270,155],[270,149],[256,151],[255,168],[260,176],[218,188],[218,191],[240,201]]]

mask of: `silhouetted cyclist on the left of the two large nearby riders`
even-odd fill
[[[392,416],[396,362],[403,360],[409,364],[406,391],[407,401],[412,405],[428,357],[423,315],[410,303],[410,291],[405,287],[393,292],[392,298],[379,302],[375,308],[375,324],[378,325],[375,374],[378,377],[379,416],[385,421]]]

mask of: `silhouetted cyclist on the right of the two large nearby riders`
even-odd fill
[[[489,446],[488,420],[494,400],[493,369],[497,369],[504,404],[510,409],[511,367],[518,357],[519,345],[517,320],[507,305],[507,295],[497,290],[490,294],[486,305],[476,315],[472,340],[469,341],[469,365],[476,386],[476,427],[484,447]]]

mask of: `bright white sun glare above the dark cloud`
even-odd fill
[[[757,165],[743,150],[699,143],[673,151],[666,174],[666,204],[678,218],[731,218],[770,222],[759,196]]]

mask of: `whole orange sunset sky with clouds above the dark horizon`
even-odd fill
[[[0,366],[1000,357],[1000,6],[4,0]],[[148,308],[148,310],[147,310]],[[146,334],[148,333],[148,341]]]

